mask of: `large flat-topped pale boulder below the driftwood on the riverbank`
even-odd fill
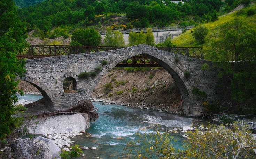
[[[29,133],[44,135],[72,132],[72,134],[79,134],[90,127],[89,121],[88,114],[86,113],[58,115],[51,118],[42,117],[33,120],[33,124],[29,126]],[[56,139],[59,137],[59,135],[55,136]]]

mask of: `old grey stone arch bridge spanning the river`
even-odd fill
[[[89,99],[97,83],[110,69],[136,55],[153,59],[170,73],[183,97],[182,107],[185,114],[199,116],[206,110],[203,101],[193,94],[193,88],[206,92],[207,99],[204,101],[215,101],[216,73],[201,69],[205,63],[211,67],[211,61],[158,50],[146,44],[118,50],[28,59],[25,66],[27,72],[20,80],[31,83],[42,93],[48,109],[63,110],[75,105],[82,98]],[[108,63],[103,65],[103,60]],[[102,69],[96,71],[99,66]],[[85,71],[95,71],[97,74],[87,79],[78,78]],[[190,76],[186,76],[185,72],[190,72]],[[63,81],[66,78],[76,80],[76,93],[64,93]]]

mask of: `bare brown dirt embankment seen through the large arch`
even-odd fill
[[[106,87],[106,84],[109,87]],[[107,92],[107,88],[112,90]],[[94,89],[92,98],[97,97],[129,106],[142,106],[176,114],[183,112],[180,91],[173,78],[163,68],[130,73],[123,69],[113,69]]]

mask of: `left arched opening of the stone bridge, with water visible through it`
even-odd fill
[[[25,93],[24,96],[20,97],[23,99],[21,104],[29,108],[29,113],[37,114],[51,111],[53,105],[51,98],[44,89],[28,79],[30,78],[20,80],[18,86]]]

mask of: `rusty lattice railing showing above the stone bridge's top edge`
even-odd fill
[[[33,59],[49,56],[71,55],[78,53],[117,50],[126,47],[115,46],[69,46],[69,45],[31,45],[24,52],[17,54],[18,59]],[[202,47],[157,47],[160,50],[203,59]]]

